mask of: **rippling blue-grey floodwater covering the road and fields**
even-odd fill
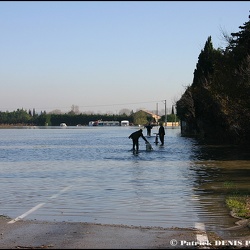
[[[204,145],[171,127],[160,147],[155,127],[148,138],[153,151],[140,139],[133,154],[128,136],[136,130],[0,129],[0,214],[134,226],[194,228],[199,222],[219,233],[235,225],[225,197],[249,190],[247,149]]]

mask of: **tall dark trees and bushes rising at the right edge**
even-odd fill
[[[250,143],[250,22],[239,29],[223,34],[225,49],[208,37],[193,82],[176,103],[183,135]]]

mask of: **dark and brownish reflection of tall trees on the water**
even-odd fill
[[[232,193],[249,195],[249,152],[247,146],[209,145],[198,141],[193,147],[190,170],[194,173],[194,192],[206,211],[200,216],[204,220],[209,217],[211,225],[214,221],[214,230],[228,237],[237,232],[223,231],[223,228],[235,226],[237,220],[230,215],[226,198]],[[249,229],[242,228],[241,234],[249,234]]]

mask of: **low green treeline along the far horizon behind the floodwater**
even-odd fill
[[[128,120],[131,124],[147,124],[148,122],[155,122],[151,116],[145,112],[139,111],[131,112],[130,115],[109,115],[109,114],[74,114],[73,112],[65,114],[47,114],[46,111],[41,114],[36,114],[35,110],[27,111],[24,109],[17,109],[13,112],[0,112],[1,125],[33,125],[33,126],[59,126],[61,123],[66,123],[68,126],[76,126],[81,124],[83,126],[89,125],[90,121],[119,121]],[[160,121],[164,121],[165,116],[162,116]],[[167,121],[179,121],[174,114],[167,115]]]

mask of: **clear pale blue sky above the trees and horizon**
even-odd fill
[[[171,111],[248,1],[2,1],[0,111]]]

